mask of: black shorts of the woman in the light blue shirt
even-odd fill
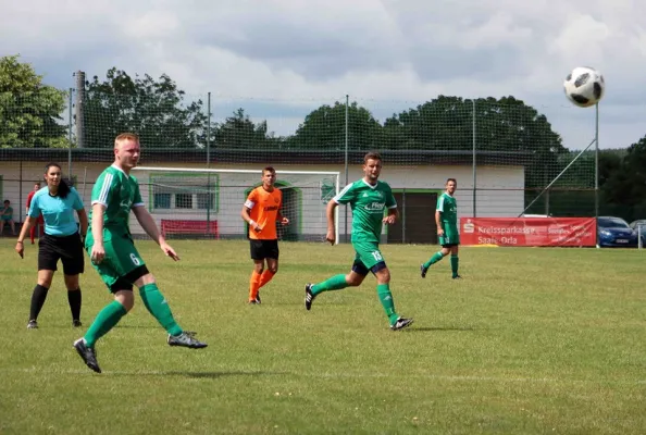
[[[59,259],[65,275],[78,275],[85,270],[83,244],[78,233],[71,236],[46,234],[38,239],[38,270],[57,271]]]

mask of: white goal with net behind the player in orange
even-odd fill
[[[246,238],[240,219],[248,192],[260,185],[262,170],[137,166],[134,174],[147,209],[169,238]],[[340,191],[339,172],[279,171],[282,240],[321,241],[327,232],[325,209]],[[338,208],[336,209],[338,243]],[[135,229],[135,228],[133,228]]]

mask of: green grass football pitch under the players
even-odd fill
[[[245,241],[175,241],[173,263],[138,246],[175,318],[208,341],[171,348],[140,299],[97,345],[95,374],[72,343],[110,296],[89,268],[82,331],[62,274],[27,331],[37,249],[0,239],[0,434],[644,434],[645,253],[462,248],[425,279],[436,247],[383,246],[398,312],[375,281],[321,295],[350,246],[281,245],[281,271],[248,306]],[[86,263],[87,265],[87,263]]]

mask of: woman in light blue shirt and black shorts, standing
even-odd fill
[[[38,240],[38,284],[34,287],[32,295],[27,328],[38,327],[38,314],[51,287],[59,259],[63,263],[67,301],[72,310],[72,325],[78,327],[82,325],[78,274],[84,272],[85,265],[82,238],[87,233],[87,213],[76,189],[71,188],[62,178],[59,164],[49,163],[45,166],[45,181],[47,187],[34,195],[27,220],[15,245],[15,250],[22,258],[25,250],[23,240],[29,228],[37,223],[38,217],[42,216],[45,236]],[[74,220],[74,210],[78,215],[80,228]]]

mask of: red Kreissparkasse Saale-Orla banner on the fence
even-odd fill
[[[595,246],[594,217],[461,217],[461,245]]]

